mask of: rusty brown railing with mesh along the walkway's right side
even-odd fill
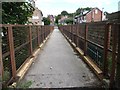
[[[95,22],[59,26],[59,29],[82,50],[83,56],[91,58],[105,77],[113,78],[118,52],[118,26],[118,23]]]

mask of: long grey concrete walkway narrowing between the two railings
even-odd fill
[[[58,29],[53,31],[22,80],[26,81],[32,82],[30,88],[88,87],[100,84]]]

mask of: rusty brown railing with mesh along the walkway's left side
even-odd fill
[[[16,78],[21,65],[32,56],[52,32],[53,26],[0,25],[2,29],[3,81]]]

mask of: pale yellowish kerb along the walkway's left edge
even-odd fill
[[[46,37],[46,39],[43,41],[42,44],[40,44],[39,48],[33,53],[33,56],[31,58],[28,58],[23,65],[20,67],[20,69],[17,71],[17,77],[19,79],[16,82],[13,82],[12,85],[8,86],[10,88],[15,88],[17,83],[19,83],[25,74],[27,73],[28,69],[32,65],[32,63],[36,60],[37,56],[39,55],[42,48],[45,46],[46,42],[48,41],[49,37],[51,36],[52,32]]]

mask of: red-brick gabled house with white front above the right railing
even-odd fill
[[[75,16],[76,23],[97,22],[102,21],[102,11],[98,8],[93,8],[88,12],[83,12],[82,15]]]

